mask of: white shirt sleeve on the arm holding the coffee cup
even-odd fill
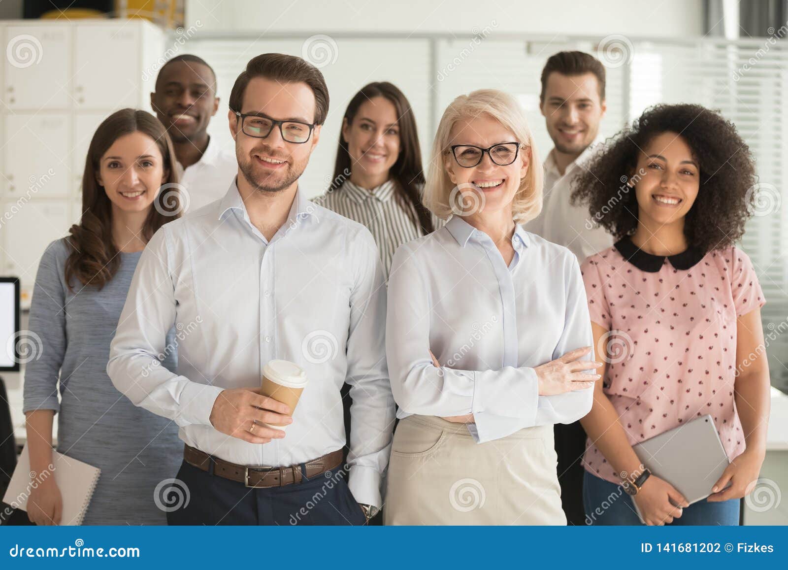
[[[177,318],[166,232],[166,226],[159,229],[139,257],[106,371],[136,406],[181,427],[210,426],[210,412],[222,388],[192,382],[158,360],[159,354],[170,352],[167,333]]]

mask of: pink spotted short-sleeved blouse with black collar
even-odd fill
[[[610,331],[604,393],[630,444],[704,414],[730,460],[745,449],[734,404],[736,319],[765,303],[744,251],[663,257],[629,238],[581,266],[591,321]],[[590,438],[583,466],[621,482]]]

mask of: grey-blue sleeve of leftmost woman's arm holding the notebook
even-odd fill
[[[28,322],[28,348],[38,351],[24,367],[24,413],[34,410],[60,410],[58,380],[65,358],[65,257],[61,240],[46,248],[33,285]]]

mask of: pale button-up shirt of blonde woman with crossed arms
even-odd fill
[[[589,412],[593,388],[540,396],[533,371],[593,345],[577,259],[519,224],[512,246],[506,266],[486,233],[453,216],[396,251],[386,354],[398,417],[473,412],[481,443]]]

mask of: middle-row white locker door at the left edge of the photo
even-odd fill
[[[66,114],[7,115],[3,131],[6,198],[68,196],[71,168],[70,117]],[[39,183],[50,173],[45,182]]]

